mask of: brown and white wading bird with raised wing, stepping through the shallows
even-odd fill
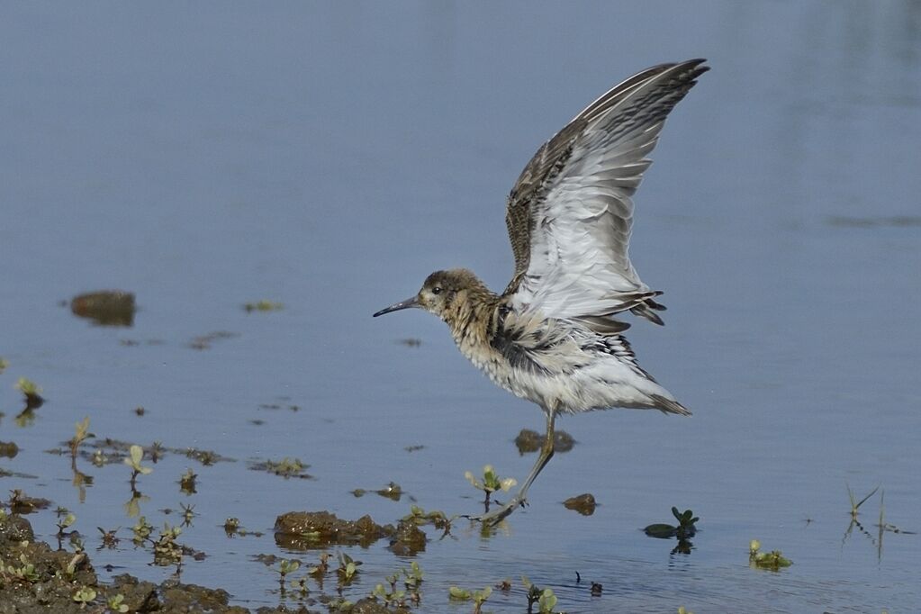
[[[540,455],[491,524],[525,503],[554,455],[558,413],[612,407],[689,415],[637,363],[614,319],[631,311],[662,324],[661,293],[644,284],[627,253],[631,201],[652,163],[666,116],[705,60],[659,64],[592,102],[537,150],[508,196],[515,274],[501,295],[465,269],[433,272],[417,295],[375,317],[420,307],[448,323],[458,347],[496,385],[537,403],[547,419]]]

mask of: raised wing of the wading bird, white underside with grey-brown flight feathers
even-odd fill
[[[630,197],[666,116],[708,70],[704,62],[660,64],[630,77],[531,158],[508,197],[515,275],[504,296],[513,308],[600,330],[626,309],[662,323],[653,311],[664,308],[653,300],[661,293],[640,280],[627,253]]]

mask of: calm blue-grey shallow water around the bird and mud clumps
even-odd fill
[[[94,477],[81,500],[69,460],[45,453],[87,415],[99,437],[236,459],[168,456],[139,478],[141,507],[160,526],[193,504],[181,541],[208,556],[183,580],[252,608],[280,600],[254,555],[316,562],[274,546],[281,513],[393,522],[406,497],[351,494],[390,481],[426,509],[472,513],[465,470],[522,479],[533,459],[512,440],[542,427],[539,411],[476,373],[436,319],[370,314],[437,268],[502,287],[504,199],[533,150],[616,81],[702,56],[713,70],[636,197],[632,256],[665,291],[667,326],[628,333],[694,416],[563,419],[577,445],[504,530],[426,529],[419,609],[469,611],[449,585],[510,577],[489,608],[522,611],[521,574],[567,612],[921,604],[919,536],[880,545],[880,492],[861,507],[867,533],[846,533],[846,485],[880,485],[885,521],[921,530],[916,3],[32,3],[0,9],[0,39],[0,441],[21,448],[0,467],[36,476],[0,490],[74,511],[91,552],[96,527],[134,519],[126,467],[81,461]],[[137,295],[132,328],[60,305],[102,288]],[[285,308],[241,308],[262,298]],[[234,334],[189,346],[215,331]],[[20,376],[47,399],[25,427]],[[248,469],[284,457],[314,479]],[[176,483],[187,468],[191,496]],[[593,516],[560,504],[581,492]],[[701,517],[690,555],[640,530],[672,505]],[[228,539],[227,516],[266,534]],[[32,520],[52,536],[51,511]],[[120,536],[98,568],[171,573]],[[750,569],[755,538],[793,566]],[[344,549],[365,562],[346,597],[406,566],[385,546]]]

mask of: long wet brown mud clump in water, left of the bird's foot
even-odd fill
[[[331,544],[367,548],[394,533],[392,525],[381,527],[371,516],[342,520],[330,512],[288,512],[275,519],[274,530],[276,544],[300,550]]]

